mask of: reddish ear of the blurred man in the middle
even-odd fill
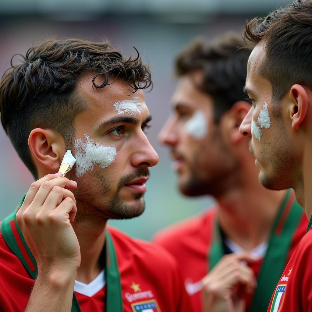
[[[244,137],[239,132],[239,126],[249,110],[250,104],[246,101],[237,101],[231,107],[229,111],[230,119],[228,120],[227,131],[232,144],[237,144],[241,142],[241,140],[244,140]]]

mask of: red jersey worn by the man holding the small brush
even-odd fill
[[[14,227],[14,221],[11,225]],[[133,239],[115,228],[108,227],[107,231],[115,247],[124,312],[192,311],[177,262],[167,251],[153,243]],[[21,245],[21,252],[25,252],[22,249]],[[27,255],[25,259],[32,266]],[[97,279],[101,276],[105,278],[102,273]],[[107,311],[107,281],[108,278],[102,283],[104,287],[96,289],[101,285],[97,281],[89,294],[88,291],[87,294],[75,292],[81,311]],[[0,232],[0,311],[23,311],[33,283]],[[81,285],[78,286],[81,289]]]

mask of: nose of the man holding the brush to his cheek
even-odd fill
[[[149,168],[157,165],[159,161],[158,154],[143,132],[136,140],[136,144],[133,145],[133,149],[135,152],[132,155],[131,164],[134,167]]]

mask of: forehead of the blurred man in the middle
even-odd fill
[[[173,106],[183,105],[193,109],[207,109],[212,106],[212,97],[199,90],[202,82],[200,71],[182,76],[172,96]]]

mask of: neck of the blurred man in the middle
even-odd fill
[[[218,220],[225,235],[245,250],[269,239],[286,191],[270,191],[260,183],[246,184],[217,198]]]

